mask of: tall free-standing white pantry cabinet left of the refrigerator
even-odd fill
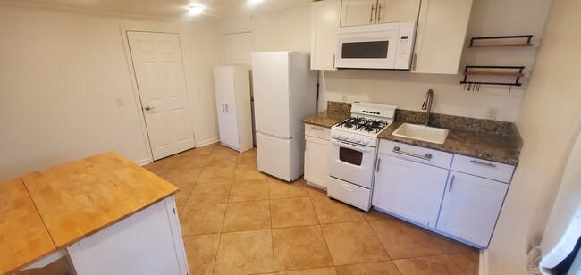
[[[250,74],[245,66],[214,68],[220,142],[238,152],[252,149]]]

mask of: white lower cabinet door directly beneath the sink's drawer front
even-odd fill
[[[435,228],[448,170],[378,154],[373,205]]]

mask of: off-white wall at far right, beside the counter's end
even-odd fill
[[[535,71],[518,113],[525,141],[488,249],[488,274],[526,274],[581,128],[581,2],[553,1]],[[573,29],[571,29],[573,28]],[[578,166],[578,163],[577,163]],[[534,256],[534,254],[532,254]]]

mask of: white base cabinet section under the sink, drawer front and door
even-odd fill
[[[381,140],[372,204],[435,228],[452,154]]]

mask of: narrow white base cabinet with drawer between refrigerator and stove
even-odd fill
[[[330,139],[331,129],[305,124],[305,180],[308,185],[327,188]]]

